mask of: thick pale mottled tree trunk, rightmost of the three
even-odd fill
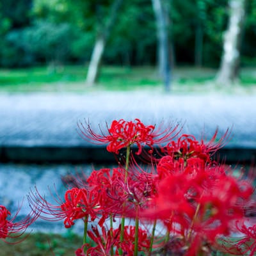
[[[230,85],[239,74],[241,34],[243,31],[246,0],[230,0],[228,29],[224,35],[223,56],[217,83]]]

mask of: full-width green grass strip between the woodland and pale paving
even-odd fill
[[[154,67],[103,67],[99,82],[95,86],[86,86],[87,68],[80,66],[33,67],[23,69],[0,69],[0,92],[77,92],[92,91],[134,91],[163,90],[161,80]],[[173,93],[205,93],[223,90],[223,86],[214,84],[216,70],[211,68],[183,67],[172,72]],[[244,68],[241,83],[232,86],[236,90],[255,89],[256,72],[253,68]],[[228,91],[228,88],[225,88]]]

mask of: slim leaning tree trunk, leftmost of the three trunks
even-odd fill
[[[101,33],[99,33],[97,36],[86,77],[86,84],[88,85],[93,85],[97,81],[106,42],[108,41],[109,33],[115,24],[116,15],[121,7],[122,1],[123,0],[115,0],[113,2],[109,13],[108,22],[106,23],[106,26],[102,28]]]

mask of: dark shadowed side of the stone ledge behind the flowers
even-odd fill
[[[250,164],[256,159],[256,148],[223,147],[216,157],[225,163]],[[23,163],[116,163],[106,147],[0,147],[0,162]]]

